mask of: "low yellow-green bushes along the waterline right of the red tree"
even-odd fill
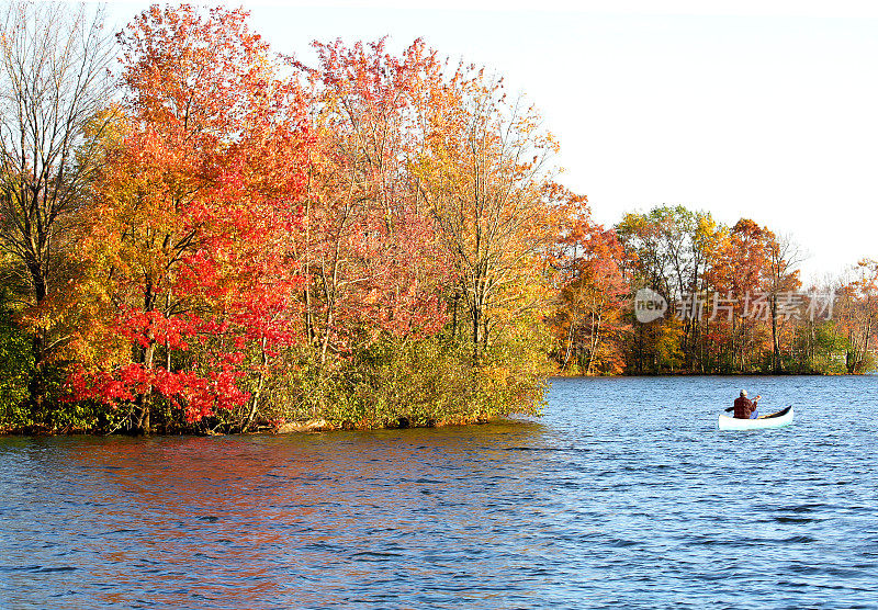
[[[502,340],[500,340],[502,339]],[[510,325],[473,363],[469,341],[383,336],[320,366],[312,352],[267,380],[262,421],[326,420],[335,428],[395,428],[538,415],[550,368],[539,325]]]

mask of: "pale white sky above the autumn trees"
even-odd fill
[[[313,39],[389,35],[397,50],[423,37],[505,76],[541,110],[563,182],[601,223],[679,203],[789,235],[808,276],[878,258],[878,4],[243,4],[275,50],[306,63]],[[111,19],[147,5],[113,2]]]

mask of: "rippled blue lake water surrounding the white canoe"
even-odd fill
[[[742,386],[796,422],[719,432]],[[555,380],[536,422],[0,439],[0,608],[878,608],[877,410]]]

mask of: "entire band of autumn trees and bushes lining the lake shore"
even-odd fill
[[[558,371],[870,366],[874,261],[812,317],[752,221],[603,227],[538,111],[421,41],[308,65],[187,5],[115,37],[52,3],[3,27],[2,430],[431,426],[537,414]],[[649,323],[644,286],[669,304]]]

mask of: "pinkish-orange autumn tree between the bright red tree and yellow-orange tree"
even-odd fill
[[[323,365],[381,336],[435,334],[448,266],[409,172],[440,78],[435,52],[421,41],[398,57],[384,39],[314,46],[319,65],[305,75],[315,146],[299,252],[309,279],[305,331]]]

